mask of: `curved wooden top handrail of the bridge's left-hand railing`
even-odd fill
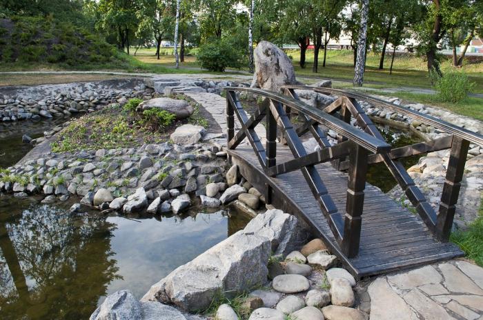
[[[336,117],[333,117],[322,110],[319,110],[313,106],[308,106],[308,104],[303,103],[302,101],[287,97],[283,94],[257,88],[225,87],[223,88],[223,90],[227,92],[250,92],[282,103],[284,106],[288,106],[289,108],[297,110],[300,113],[306,114],[311,119],[322,123],[327,128],[337,132],[337,134],[341,134],[342,136],[347,137],[349,140],[354,141],[355,143],[357,143],[357,145],[362,146],[362,148],[370,152],[386,153],[391,150],[391,146],[389,146],[388,143],[386,143],[385,141],[377,139],[370,134],[367,134],[366,132],[357,130],[357,128],[354,128],[350,124],[345,123],[344,121],[337,119]]]

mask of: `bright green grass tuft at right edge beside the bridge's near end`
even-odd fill
[[[466,258],[483,267],[483,201],[479,217],[470,223],[468,230],[458,230],[451,234],[451,241],[464,251]]]

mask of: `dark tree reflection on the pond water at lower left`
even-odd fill
[[[119,278],[115,225],[49,206],[14,207],[22,208],[0,205],[1,318],[87,319]]]

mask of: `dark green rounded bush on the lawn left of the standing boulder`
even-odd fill
[[[241,55],[228,41],[216,39],[200,46],[197,61],[201,68],[210,71],[222,72],[226,67],[240,68]]]

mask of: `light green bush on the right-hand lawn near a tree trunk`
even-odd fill
[[[429,75],[438,97],[444,102],[463,101],[475,86],[463,71],[449,70],[440,76],[435,70],[431,70]]]

